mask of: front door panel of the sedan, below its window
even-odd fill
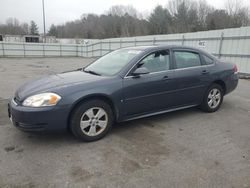
[[[123,81],[124,115],[143,114],[170,108],[173,103],[174,71],[129,77]]]

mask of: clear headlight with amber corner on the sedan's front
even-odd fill
[[[41,93],[28,97],[23,101],[23,106],[43,107],[54,106],[58,103],[61,97],[55,93]]]

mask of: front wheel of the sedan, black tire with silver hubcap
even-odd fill
[[[114,122],[113,111],[102,100],[81,103],[72,112],[70,130],[82,141],[96,141],[104,137]]]

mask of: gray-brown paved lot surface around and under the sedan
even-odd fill
[[[0,58],[0,187],[250,188],[248,80],[216,113],[192,108],[121,123],[93,143],[11,125],[7,99],[18,86],[90,61]]]

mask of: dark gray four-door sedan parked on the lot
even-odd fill
[[[141,46],[113,51],[86,68],[19,88],[8,105],[24,131],[71,130],[102,138],[114,122],[200,106],[219,109],[238,84],[237,67],[194,48]]]

